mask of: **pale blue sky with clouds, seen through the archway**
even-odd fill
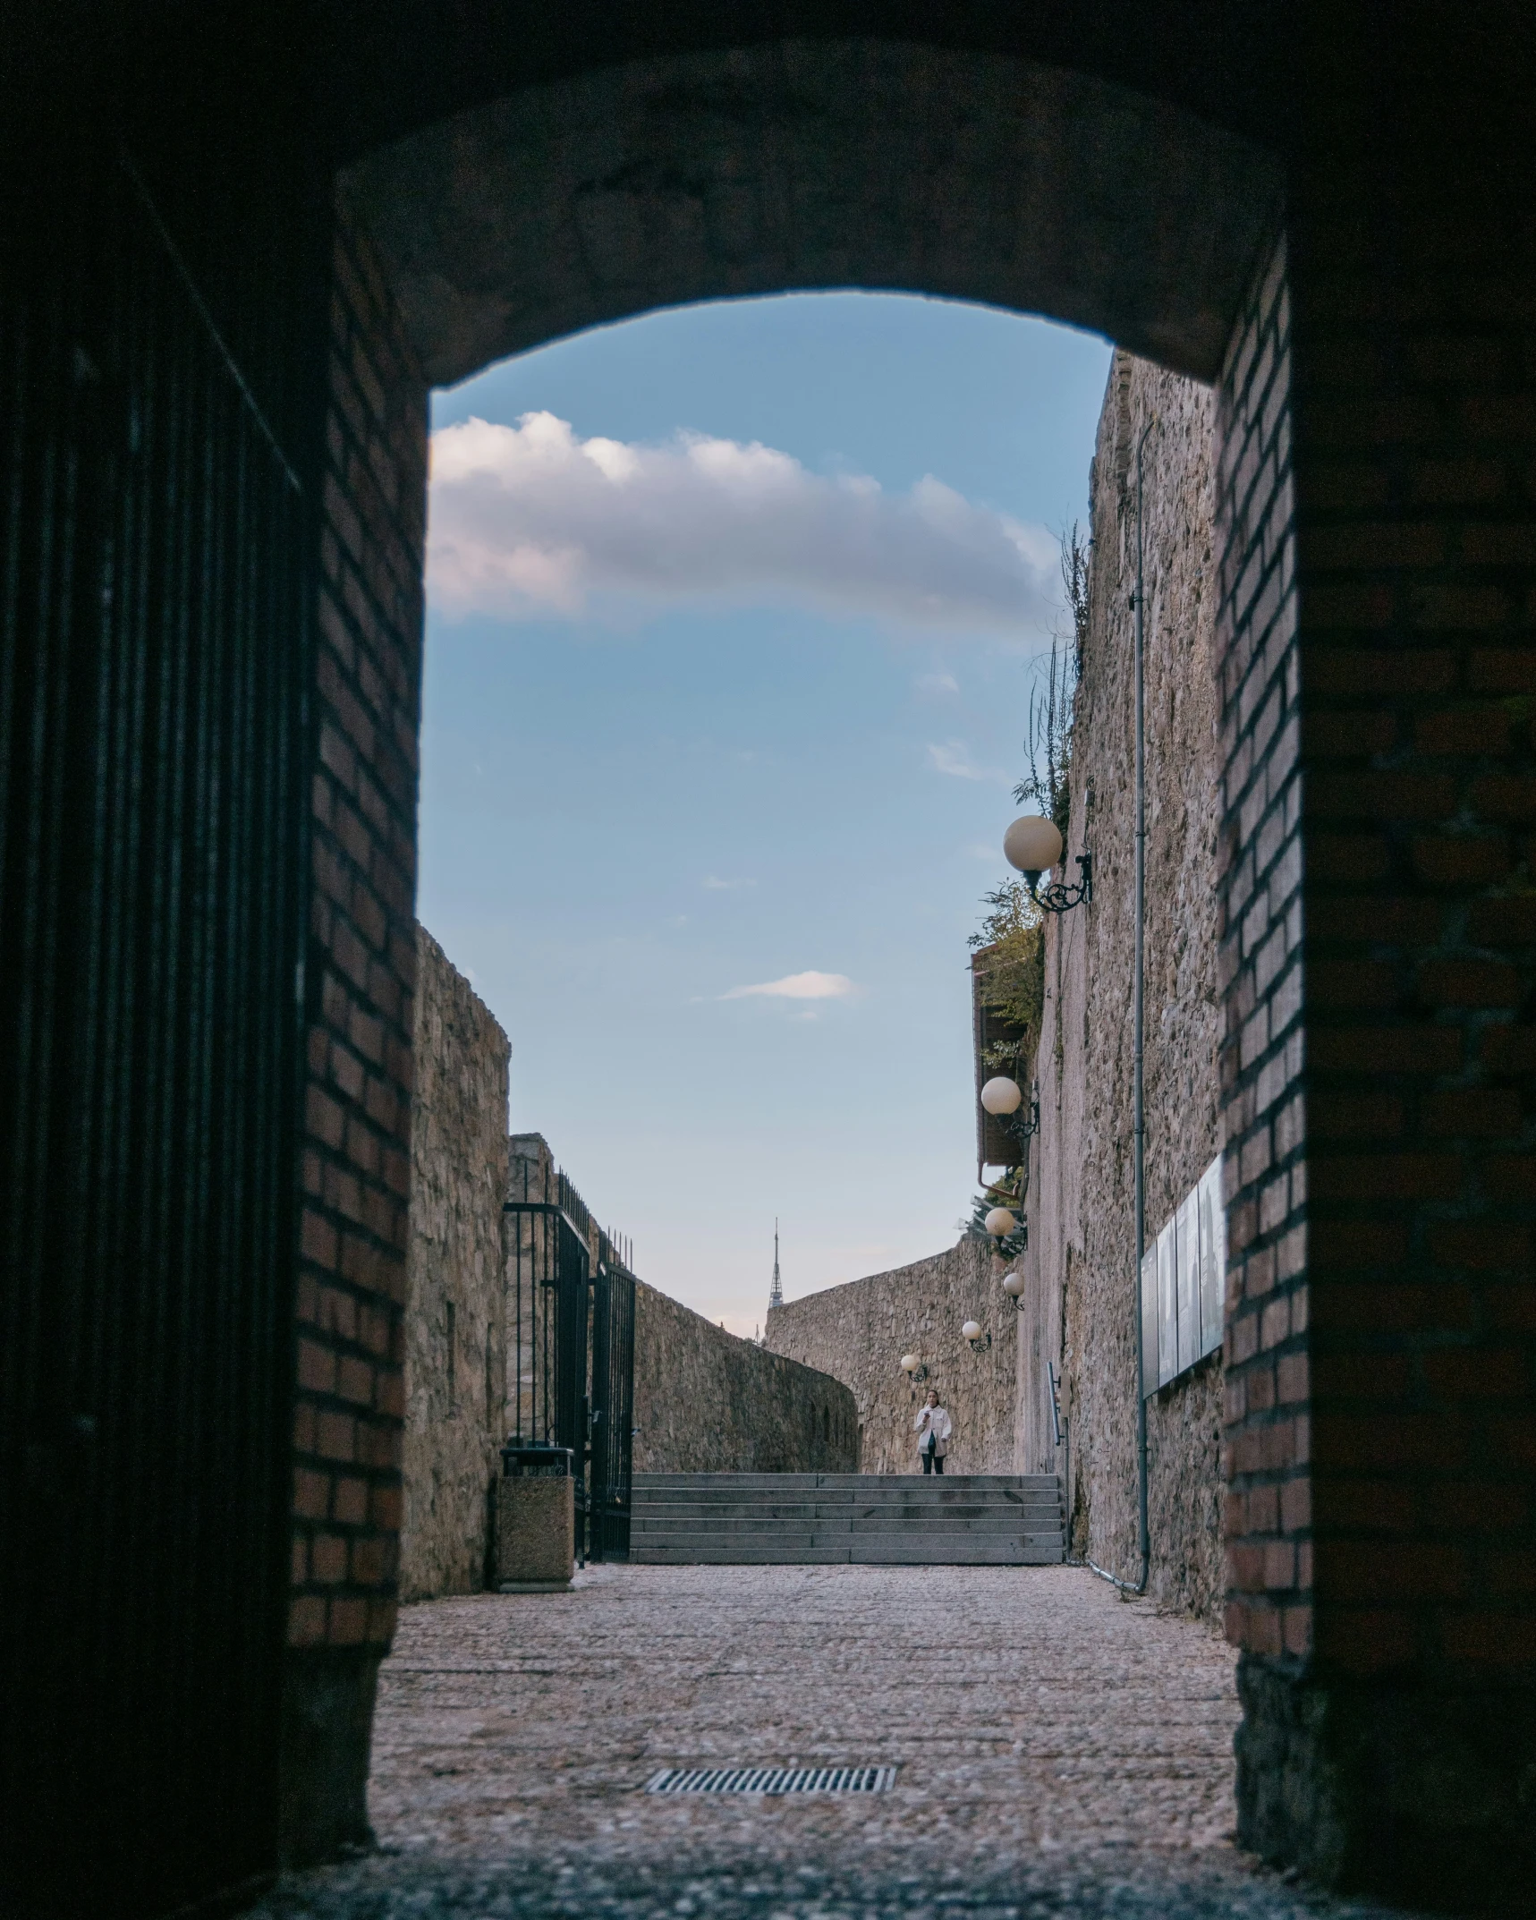
[[[420,918],[507,1029],[513,1127],[737,1332],[776,1215],[795,1298],[970,1204],[966,935],[1108,357],[801,294],[434,399]]]

